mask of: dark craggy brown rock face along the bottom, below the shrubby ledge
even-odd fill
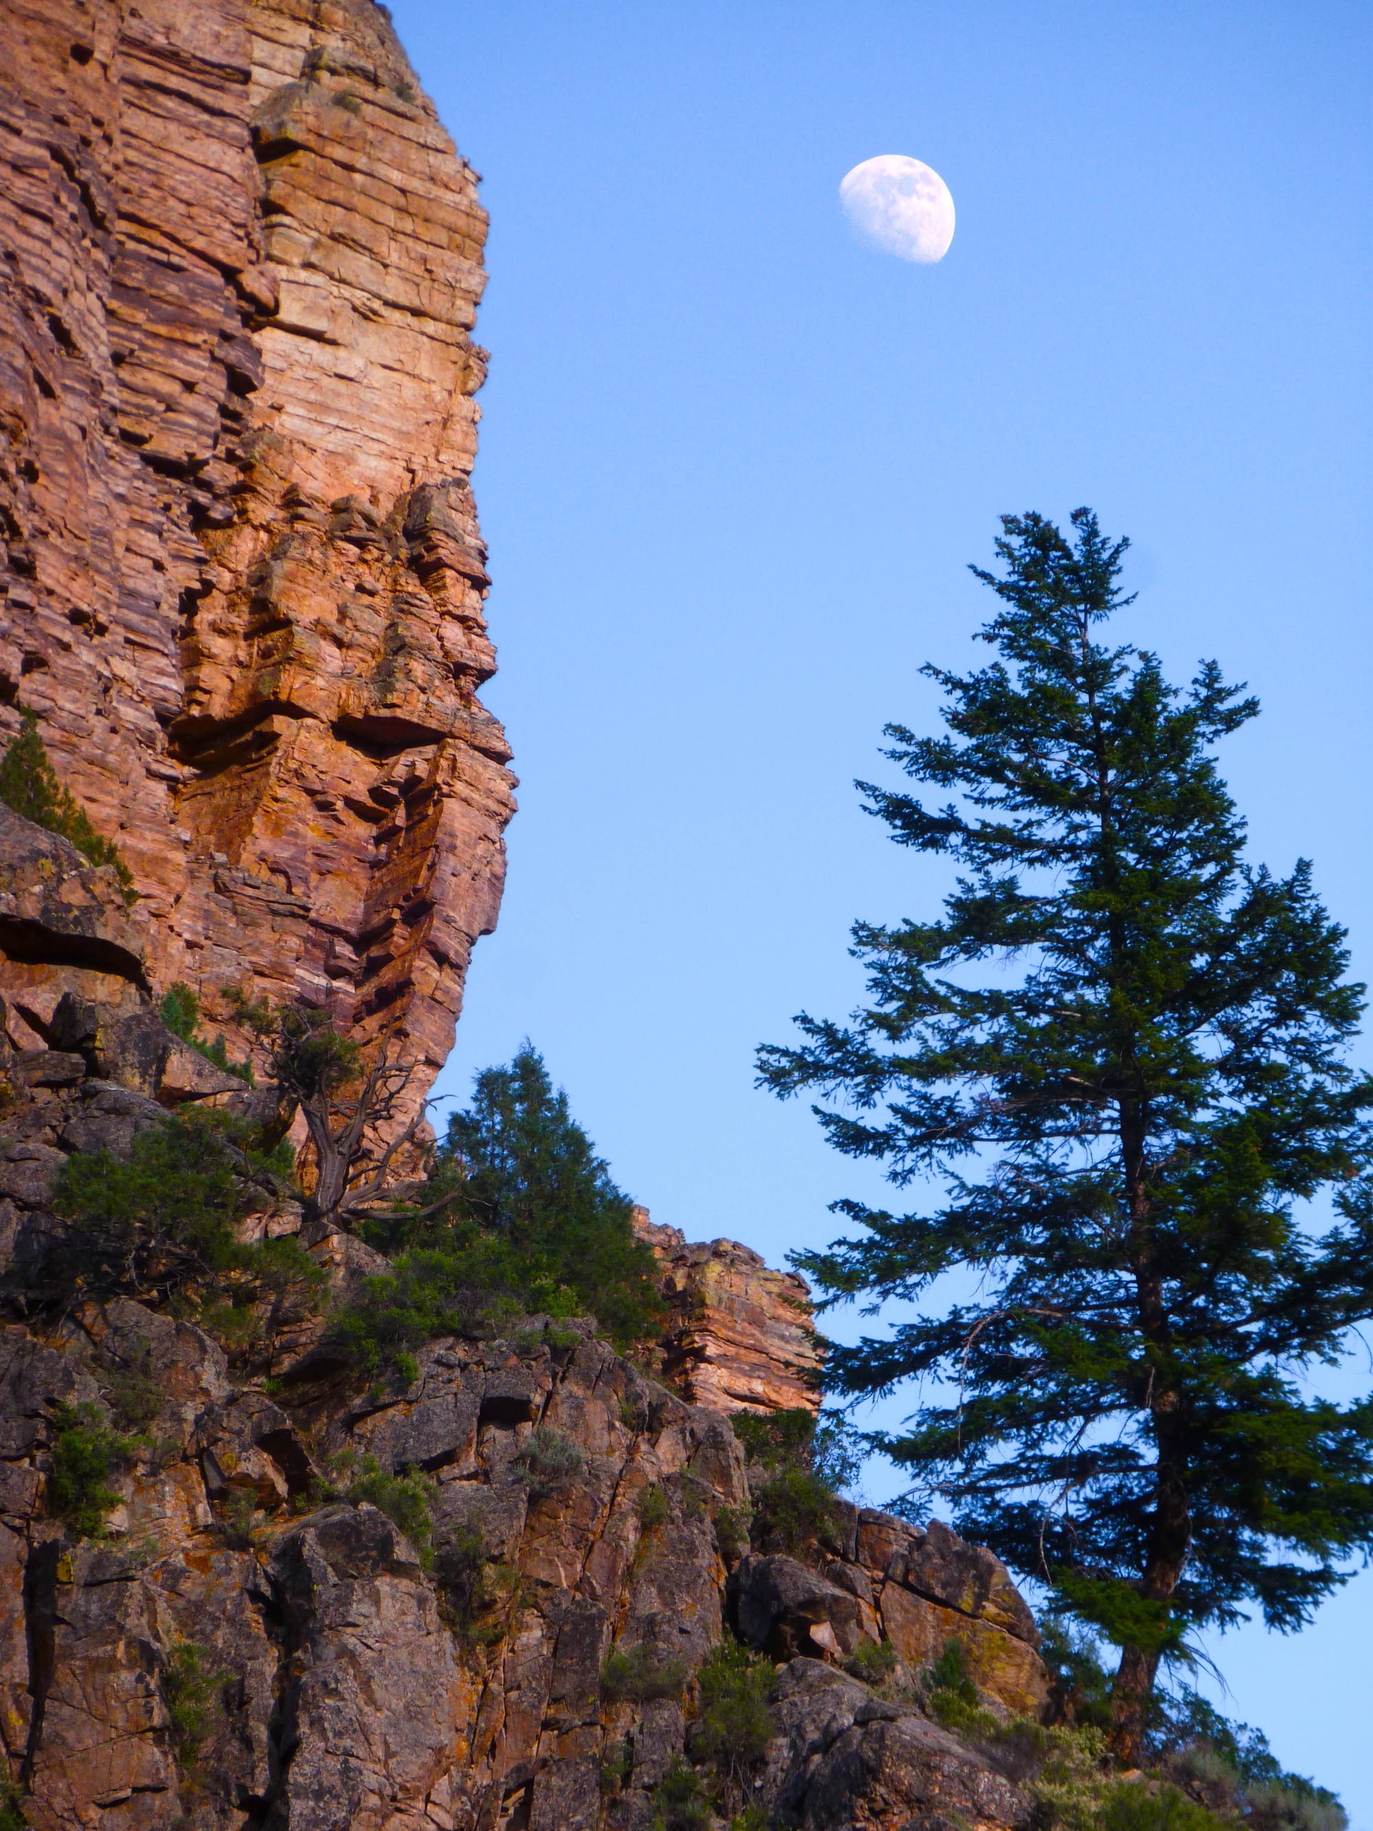
[[[79,1542],[44,1501],[53,1410],[108,1415],[130,1366],[159,1412],[115,1478],[110,1534]],[[558,1470],[540,1474],[555,1434]],[[370,1503],[320,1505],[311,1481],[341,1452],[430,1474],[432,1556]],[[200,1327],[128,1300],[49,1337],[2,1331],[0,1741],[29,1822],[646,1831],[692,1747],[694,1688],[611,1699],[606,1655],[646,1648],[690,1675],[734,1630],[782,1661],[752,1789],[769,1813],[809,1831],[1027,1827],[985,1754],[842,1666],[924,1611],[932,1655],[959,1633],[989,1701],[1034,1708],[1043,1672],[1018,1637],[1034,1630],[1000,1564],[943,1533],[923,1566],[928,1533],[840,1507],[809,1564],[747,1555],[729,1573],[716,1520],[745,1501],[729,1419],[580,1327],[436,1340],[408,1384],[302,1364],[271,1395],[236,1384]],[[216,1675],[194,1760],[174,1716],[187,1642]]]

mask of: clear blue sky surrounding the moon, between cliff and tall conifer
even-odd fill
[[[1316,861],[1373,978],[1366,5],[394,13],[485,174],[485,698],[524,782],[447,1091],[527,1035],[655,1219],[829,1238],[862,1179],[752,1049],[849,1009],[857,916],[941,894],[851,782],[930,721],[919,663],[972,659],[965,568],[1020,509],[1093,504],[1135,542],[1128,634],[1250,681],[1254,855]],[[948,183],[939,265],[848,231],[882,152]],[[1357,1831],[1369,1644],[1360,1576],[1214,1648]]]

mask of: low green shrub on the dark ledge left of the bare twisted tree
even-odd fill
[[[168,1298],[203,1307],[227,1338],[234,1316],[256,1327],[245,1306],[304,1315],[322,1273],[298,1240],[243,1245],[234,1229],[275,1197],[280,1150],[265,1155],[227,1113],[174,1113],[141,1132],[128,1159],[77,1152],[53,1194],[71,1221],[48,1262],[53,1302],[86,1296]]]

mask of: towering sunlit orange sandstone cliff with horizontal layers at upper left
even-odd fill
[[[513,807],[476,176],[372,0],[13,0],[0,165],[0,738],[117,840],[154,989],[328,996],[419,1099]]]

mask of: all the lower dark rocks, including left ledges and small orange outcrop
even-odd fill
[[[377,1375],[328,1307],[247,1349],[176,1298],[44,1309],[71,1152],[275,1093],[159,1022],[114,870],[4,807],[0,936],[48,1031],[0,1035],[5,1831],[648,1831],[697,1783],[697,1675],[725,1646],[773,1663],[736,1804],[809,1831],[1029,1827],[1014,1771],[917,1683],[957,1641],[990,1710],[1042,1708],[996,1558],[844,1501],[787,1527],[745,1467],[729,1412],[813,1404],[798,1280],[643,1218],[677,1302],[663,1381],[538,1316]],[[289,1201],[240,1229],[284,1234],[335,1296],[388,1269]]]

